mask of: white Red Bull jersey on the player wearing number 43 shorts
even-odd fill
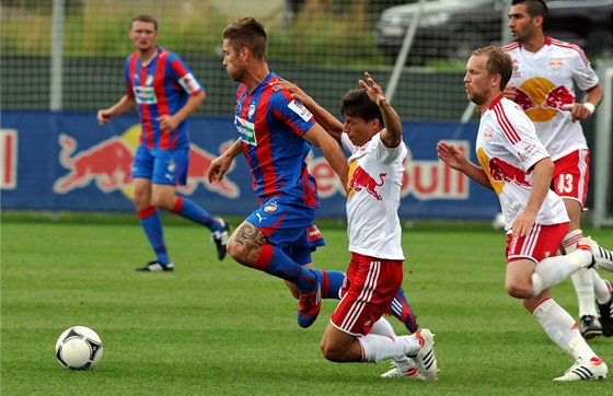
[[[513,60],[509,83],[517,86],[516,102],[534,121],[552,160],[587,149],[581,124],[574,123],[570,112],[564,109],[577,101],[575,84],[581,91],[598,84],[598,75],[583,50],[550,37],[537,53],[528,51],[519,43],[504,48]]]

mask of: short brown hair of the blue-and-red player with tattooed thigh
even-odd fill
[[[257,59],[266,59],[266,31],[254,18],[243,18],[223,30],[223,39],[235,49],[248,48]]]

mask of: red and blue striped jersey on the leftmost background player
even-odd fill
[[[158,118],[177,113],[190,95],[204,91],[187,65],[176,55],[158,47],[158,55],[142,66],[138,53],[126,59],[126,95],[134,97],[140,116],[140,144],[148,149],[173,150],[189,147],[187,123],[162,133]]]

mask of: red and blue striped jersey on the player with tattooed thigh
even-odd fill
[[[288,91],[273,91],[280,80],[269,73],[253,92],[244,84],[236,90],[234,126],[243,142],[243,153],[259,203],[282,197],[317,208],[315,178],[307,167],[311,144],[302,137],[315,124],[302,103]]]

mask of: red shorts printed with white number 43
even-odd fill
[[[575,199],[581,206],[586,206],[590,179],[590,151],[574,151],[555,161],[554,165],[553,190],[562,198]]]

